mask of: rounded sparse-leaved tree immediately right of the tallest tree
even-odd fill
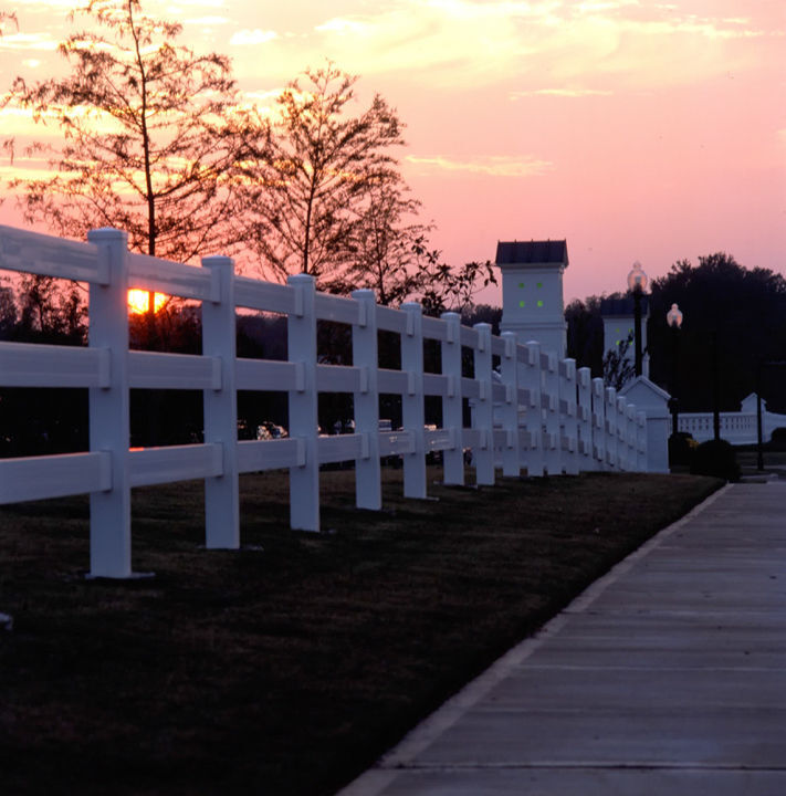
[[[349,115],[356,82],[332,63],[306,70],[279,96],[272,121],[249,119],[239,233],[277,279],[338,276],[371,197],[399,184],[390,150],[404,143],[404,125],[379,95]]]

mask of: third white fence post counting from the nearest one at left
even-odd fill
[[[290,468],[290,525],[294,531],[319,530],[319,451],[316,391],[316,310],[314,277],[294,274],[295,311],[286,317],[287,358],[296,367],[297,385],[290,391],[290,436],[302,441],[303,463]]]

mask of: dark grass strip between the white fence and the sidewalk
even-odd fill
[[[430,471],[438,478],[438,471]],[[87,501],[0,511],[0,792],[319,796],[714,491],[689,475],[430,486],[287,530],[242,479],[240,552],[206,551],[201,483],[134,493],[134,568],[86,580]]]

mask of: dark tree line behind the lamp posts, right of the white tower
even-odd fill
[[[565,311],[568,356],[608,381],[600,305],[623,295],[576,300]],[[724,252],[700,256],[696,265],[679,260],[652,281],[647,300],[650,378],[673,389],[682,411],[712,410],[715,368],[721,410],[738,411],[740,401],[759,388],[759,364],[786,360],[786,280],[768,269],[746,269]],[[672,304],[684,313],[677,333],[666,321]],[[786,412],[786,369],[762,373],[769,408]]]

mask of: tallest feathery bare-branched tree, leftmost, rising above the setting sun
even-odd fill
[[[181,262],[224,252],[237,159],[229,60],[176,44],[181,25],[146,15],[140,0],[90,0],[74,17],[93,27],[60,44],[71,72],[17,77],[3,98],[63,136],[25,149],[49,156],[53,176],[9,181],[25,220],[77,239],[117,227],[132,250]]]

